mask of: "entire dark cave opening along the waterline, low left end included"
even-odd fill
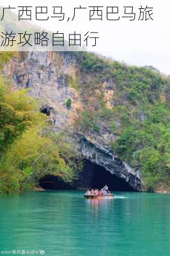
[[[79,179],[73,184],[67,184],[59,177],[46,175],[39,180],[39,185],[47,190],[59,189],[101,189],[107,184],[111,191],[135,191],[125,180],[111,174],[103,166],[92,163],[89,160],[84,161],[82,172],[79,173]]]

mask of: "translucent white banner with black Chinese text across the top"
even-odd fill
[[[169,51],[169,1],[6,0],[0,51]]]

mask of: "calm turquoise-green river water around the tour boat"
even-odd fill
[[[115,192],[115,199],[85,200],[83,194],[0,196],[0,255],[170,255],[170,195]]]

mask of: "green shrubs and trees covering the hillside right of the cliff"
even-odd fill
[[[102,132],[105,124],[117,134],[114,152],[136,170],[141,170],[144,188],[170,186],[170,79],[147,67],[129,67],[92,53],[76,53],[82,72],[84,111],[77,124],[82,131]],[[84,78],[85,77],[85,78]],[[105,107],[102,83],[114,84],[112,109]],[[110,82],[111,81],[111,82]],[[88,84],[88,90],[87,86]],[[95,90],[100,97],[95,96]],[[92,100],[93,99],[93,100]],[[91,104],[92,102],[92,104]],[[116,127],[115,120],[120,125]]]

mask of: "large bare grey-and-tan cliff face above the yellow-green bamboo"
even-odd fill
[[[68,54],[56,52],[27,52],[26,56],[13,59],[4,68],[4,75],[10,78],[16,88],[27,88],[38,99],[41,108],[54,109],[56,126],[61,129],[72,124],[81,108],[79,93],[69,86],[70,77],[75,77],[75,60]],[[66,108],[70,99],[72,106]]]

